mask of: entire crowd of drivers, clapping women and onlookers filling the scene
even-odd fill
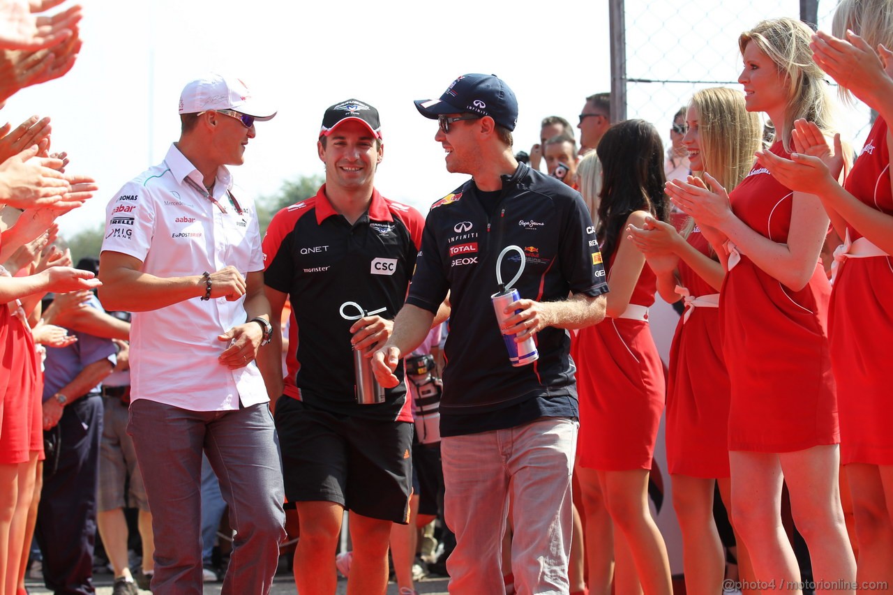
[[[0,99],[71,69],[80,9],[59,4],[4,4]],[[549,116],[515,153],[512,89],[458,77],[415,102],[471,176],[427,217],[375,186],[375,107],[338,101],[325,183],[263,238],[229,167],[277,110],[210,73],[77,267],[54,220],[95,180],[51,152],[49,118],[0,128],[0,595],[27,592],[32,538],[48,588],[94,592],[97,532],[115,595],[201,593],[223,507],[224,593],[269,592],[290,536],[298,592],[334,593],[338,568],[384,593],[390,552],[413,595],[439,517],[451,593],[668,594],[662,417],[686,591],[729,587],[715,494],[731,587],[889,588],[893,1],[842,0],[831,33],[761,21],[738,46],[744,92],[697,91],[666,149],[599,93],[579,139]],[[858,155],[829,78],[878,114]],[[655,295],[680,306],[666,366]]]

